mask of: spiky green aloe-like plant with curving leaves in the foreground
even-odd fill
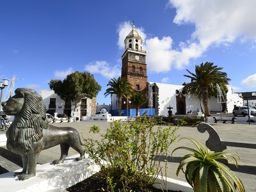
[[[225,164],[217,161],[221,159],[228,160],[228,157],[231,157],[231,160],[234,160],[233,162],[237,167],[237,160],[235,157],[237,154],[213,152],[205,145],[202,145],[192,138],[182,139],[192,141],[198,150],[189,147],[177,147],[173,150],[173,152],[175,152],[178,149],[185,149],[193,152],[193,154],[187,154],[180,159],[176,175],[179,175],[180,170],[184,172],[183,166],[186,165],[186,170],[184,172],[186,180],[195,191],[245,191],[243,183],[239,177],[237,177]]]

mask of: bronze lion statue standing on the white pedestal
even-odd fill
[[[22,157],[22,172],[17,172],[19,180],[26,180],[36,175],[36,163],[40,152],[46,148],[59,145],[61,157],[53,164],[62,163],[68,155],[69,147],[79,152],[84,159],[79,133],[71,127],[54,127],[47,123],[45,105],[42,97],[34,90],[17,88],[15,95],[2,102],[6,115],[15,118],[6,132],[8,150]]]

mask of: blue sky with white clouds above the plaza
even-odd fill
[[[106,84],[120,76],[134,21],[148,81],[182,84],[186,69],[209,61],[235,92],[255,91],[255,7],[253,0],[0,1],[0,78],[15,76],[15,88],[40,93],[51,79],[87,70],[102,86],[97,102],[109,104]]]

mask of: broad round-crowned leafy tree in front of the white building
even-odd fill
[[[101,86],[95,81],[90,72],[78,71],[68,74],[63,81],[52,79],[49,86],[61,99],[74,102],[74,111],[76,111],[77,102],[83,97],[92,99],[101,90]]]

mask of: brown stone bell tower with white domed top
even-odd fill
[[[146,51],[143,51],[143,40],[132,25],[132,31],[124,40],[125,51],[122,55],[122,78],[131,83],[135,92],[147,92]]]

